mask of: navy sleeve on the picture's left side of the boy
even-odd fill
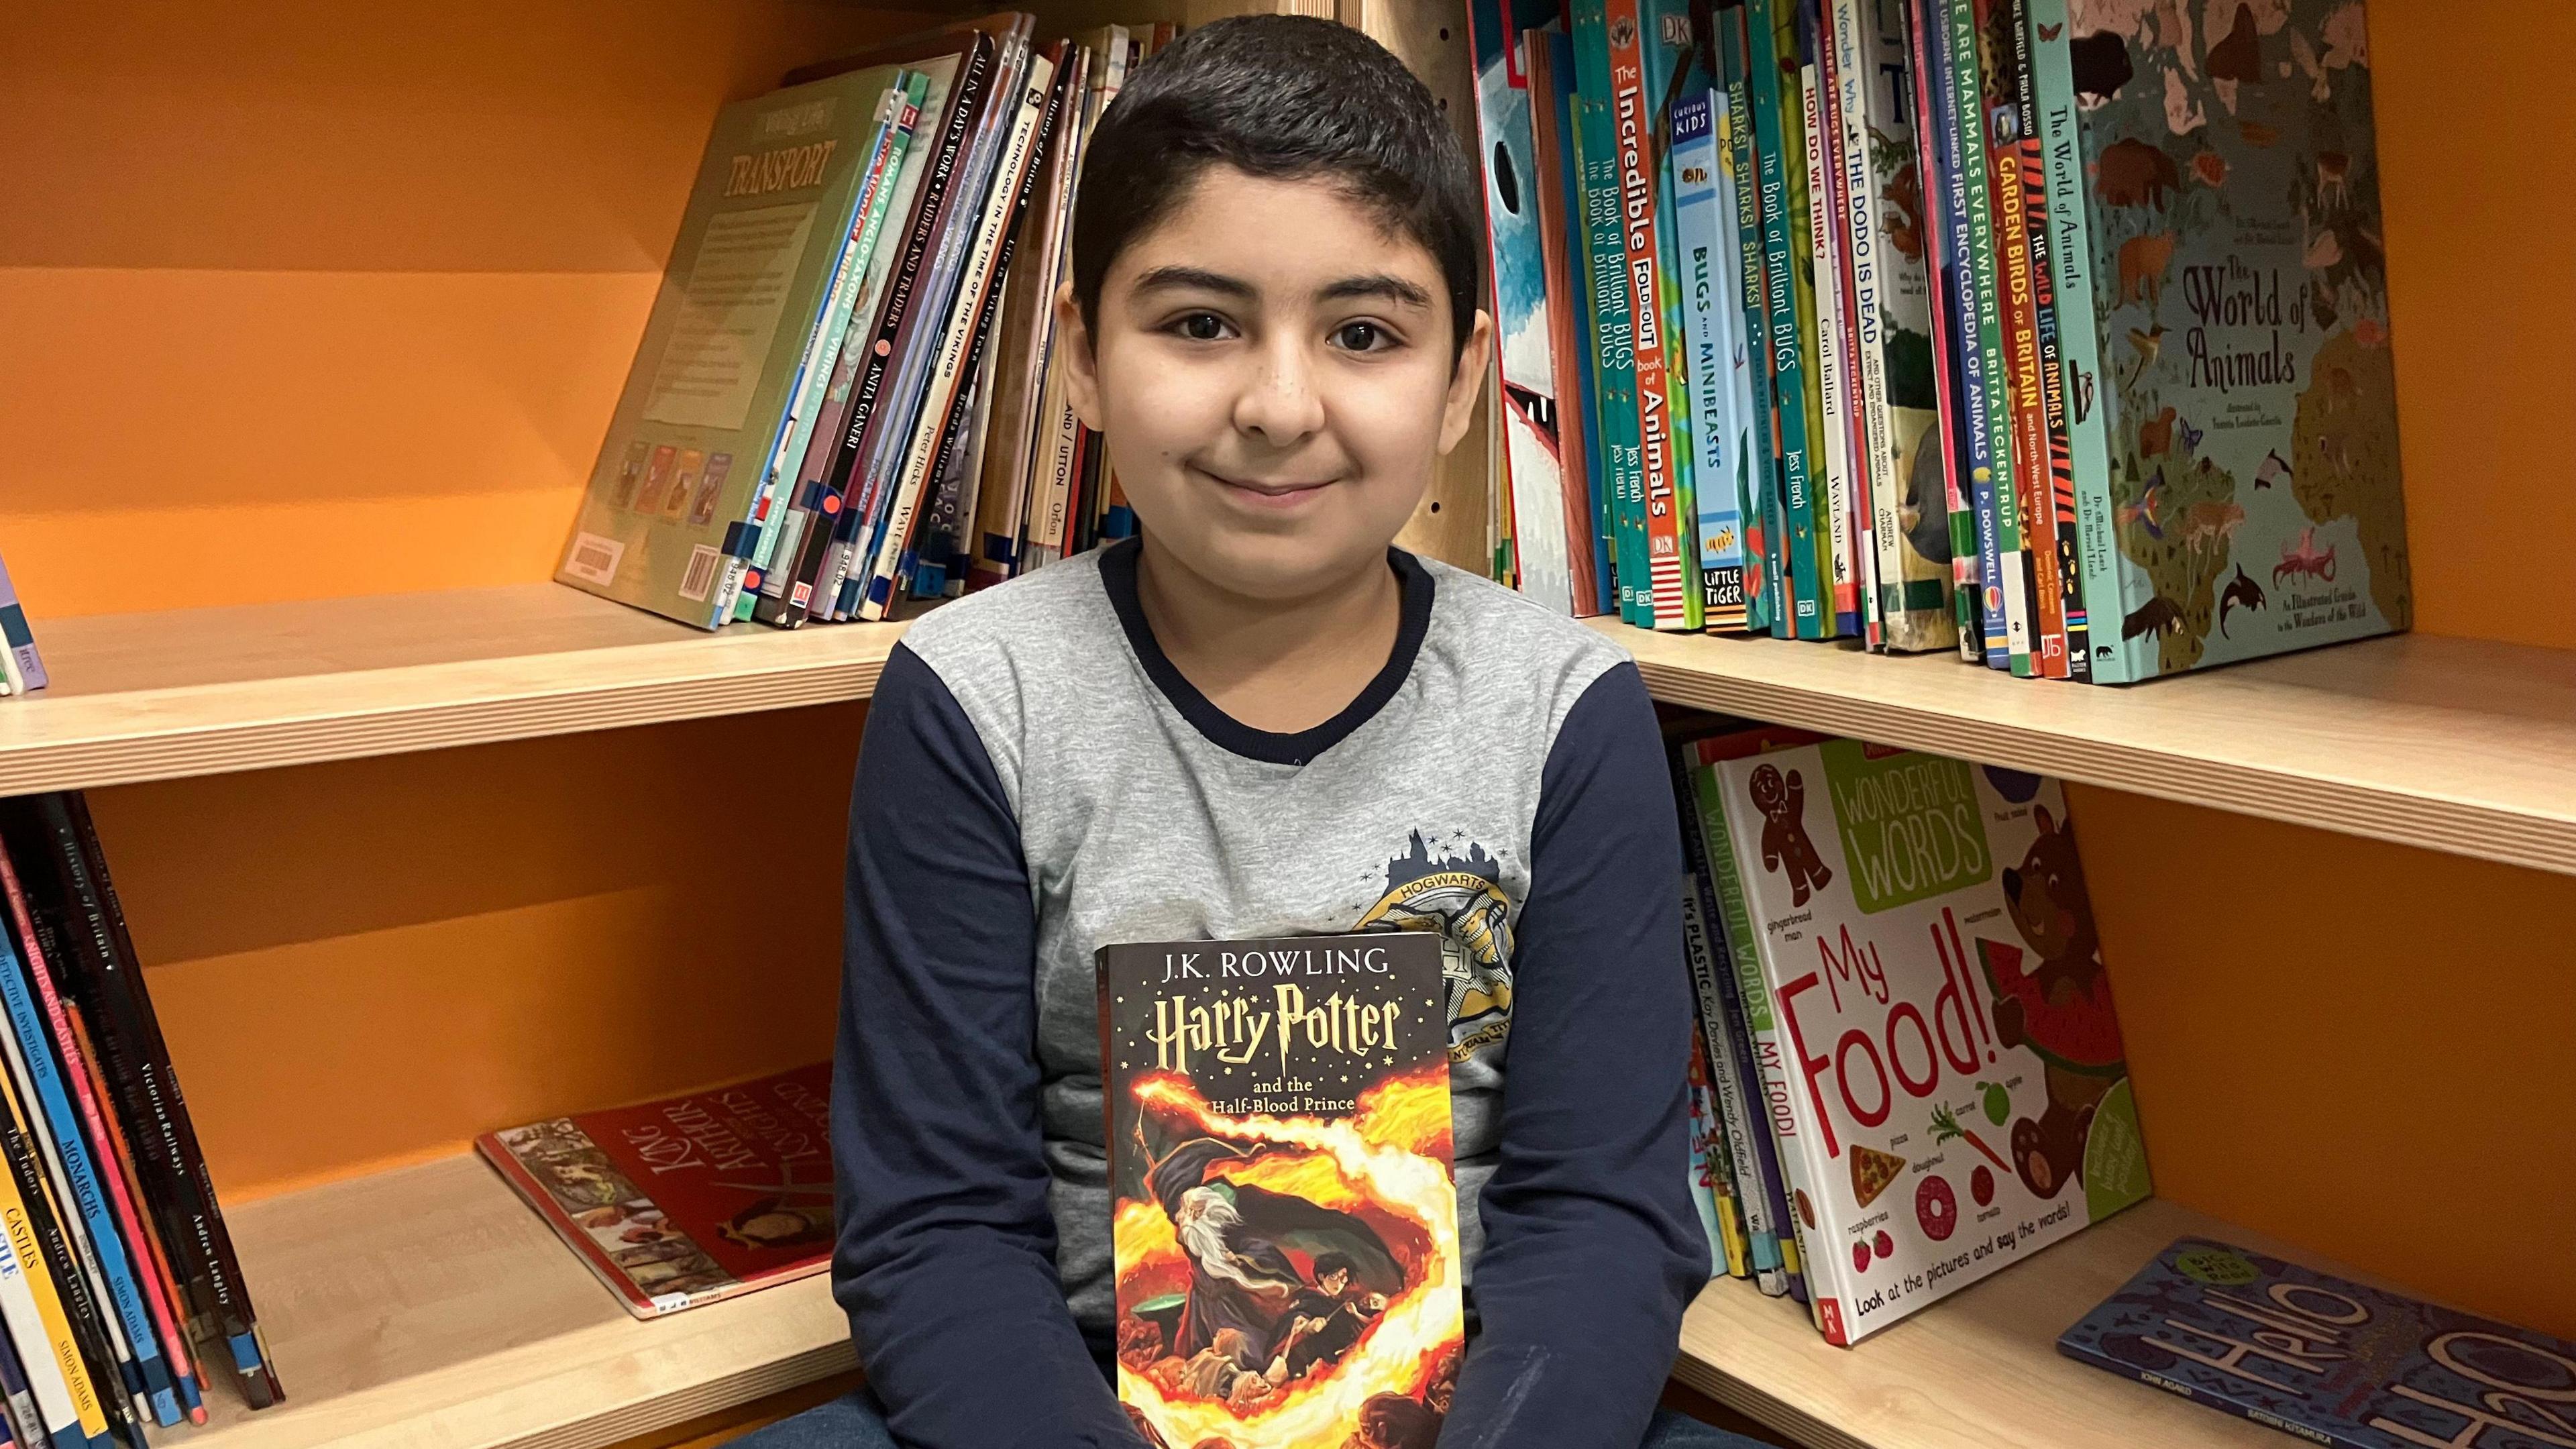
[[[896,647],[850,802],[832,1294],[902,1444],[1136,1446],[1056,1281],[1033,949],[992,758]]]

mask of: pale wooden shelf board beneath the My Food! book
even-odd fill
[[[1834,1348],[1806,1307],[1718,1279],[1682,1320],[1674,1377],[1814,1449],[2280,1449],[2277,1428],[2058,1354],[2174,1238],[2208,1235],[2367,1274],[2161,1199],[2050,1245],[1893,1328]]]

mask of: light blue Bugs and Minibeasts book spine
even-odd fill
[[[1744,629],[1744,516],[1736,492],[1744,428],[1734,415],[1736,297],[1726,286],[1736,209],[1734,188],[1718,162],[1718,98],[1705,85],[1672,103],[1672,211],[1685,297],[1682,343],[1690,356],[1700,624],[1731,634]]]

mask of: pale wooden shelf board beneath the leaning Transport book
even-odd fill
[[[703,634],[554,583],[44,627],[0,794],[863,699],[902,624]]]

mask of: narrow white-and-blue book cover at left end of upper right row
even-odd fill
[[[1522,31],[1556,18],[1556,0],[1468,0],[1466,31],[1476,49],[1476,134],[1484,142],[1484,237],[1494,345],[1502,356],[1502,477],[1512,490],[1512,557],[1520,593],[1558,614],[1574,611],[1571,544],[1566,536],[1566,469],[1551,348],[1546,250],[1538,199],[1548,178],[1538,168],[1528,46]]]

